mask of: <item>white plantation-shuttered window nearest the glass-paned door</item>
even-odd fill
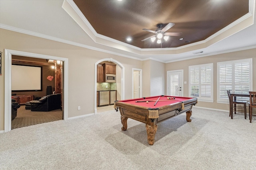
[[[189,66],[189,96],[200,101],[213,102],[213,64]]]

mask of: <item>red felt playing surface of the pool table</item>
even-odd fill
[[[159,98],[160,97],[160,98]],[[168,100],[167,97],[171,97],[171,98],[175,98]],[[159,100],[158,100],[159,98]],[[147,97],[147,98],[137,98],[137,99],[129,99],[129,100],[119,100],[118,102],[124,102],[127,104],[133,104],[136,106],[144,106],[144,107],[150,107],[152,109],[154,108],[158,108],[158,107],[162,107],[162,106],[166,106],[166,105],[170,105],[170,104],[175,104],[175,103],[179,103],[179,102],[183,102],[185,100],[189,100],[192,98],[188,98],[188,97],[177,97],[177,96],[151,96],[151,97]],[[141,101],[150,101],[150,100],[158,100],[158,102],[156,103],[156,101],[153,102],[141,102]],[[164,101],[161,101],[164,100]],[[154,106],[154,104],[156,103],[156,106]]]

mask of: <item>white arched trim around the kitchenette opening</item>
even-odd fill
[[[122,63],[120,63],[119,61],[112,59],[112,58],[105,58],[105,59],[101,59],[99,61],[97,61],[95,63],[94,66],[94,113],[97,113],[97,64],[103,62],[103,61],[110,61],[115,63],[116,65],[118,65],[121,68],[121,92],[120,92],[120,96],[121,96],[121,100],[124,100],[124,66]]]

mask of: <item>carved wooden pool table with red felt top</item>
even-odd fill
[[[149,145],[154,145],[158,123],[186,112],[186,120],[191,122],[192,106],[197,98],[177,96],[152,96],[114,102],[114,108],[121,114],[122,130],[127,129],[127,119],[146,123]]]

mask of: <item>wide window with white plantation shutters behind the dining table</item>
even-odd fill
[[[248,93],[252,87],[252,59],[217,63],[218,102],[228,102],[227,90]],[[238,98],[237,98],[238,99]],[[243,98],[247,100],[247,98]]]

